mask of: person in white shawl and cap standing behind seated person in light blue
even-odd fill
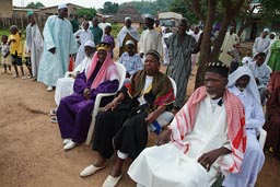
[[[127,51],[126,50],[126,43],[127,40],[132,40],[135,43],[135,52],[137,51],[137,43],[139,40],[139,35],[137,28],[131,26],[131,19],[127,16],[125,19],[125,26],[119,31],[117,36],[117,45],[119,47],[119,57]]]

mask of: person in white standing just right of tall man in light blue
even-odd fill
[[[93,40],[93,35],[91,30],[89,30],[89,22],[84,21],[83,22],[83,28],[82,30],[78,30],[74,33],[74,37],[77,38],[78,44],[80,44],[79,46],[79,50],[74,60],[74,66],[79,66],[80,62],[84,59],[85,57],[85,52],[84,52],[84,44],[86,40]]]

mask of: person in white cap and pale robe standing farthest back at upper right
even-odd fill
[[[255,39],[253,46],[253,57],[255,57],[259,52],[265,52],[267,55],[270,45],[270,39],[267,38],[268,33],[269,30],[265,28],[261,33],[261,36]]]

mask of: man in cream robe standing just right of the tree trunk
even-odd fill
[[[236,33],[234,33],[234,27],[230,27],[230,31],[225,34],[223,45],[221,47],[221,54],[219,60],[225,63],[226,66],[231,66],[233,57],[228,54],[228,51],[234,49],[234,45],[240,43],[240,37]]]

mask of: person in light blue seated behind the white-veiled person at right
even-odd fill
[[[270,79],[271,69],[265,63],[266,54],[259,52],[256,56],[256,61],[250,63],[248,67],[253,72],[253,77],[256,80],[258,92],[260,95],[260,103],[264,106],[266,104],[266,90]]]

